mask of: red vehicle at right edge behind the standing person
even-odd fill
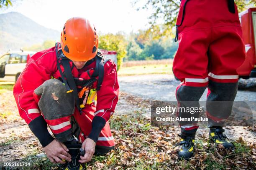
[[[241,78],[256,77],[256,7],[239,13],[246,48],[246,60],[238,67]]]

